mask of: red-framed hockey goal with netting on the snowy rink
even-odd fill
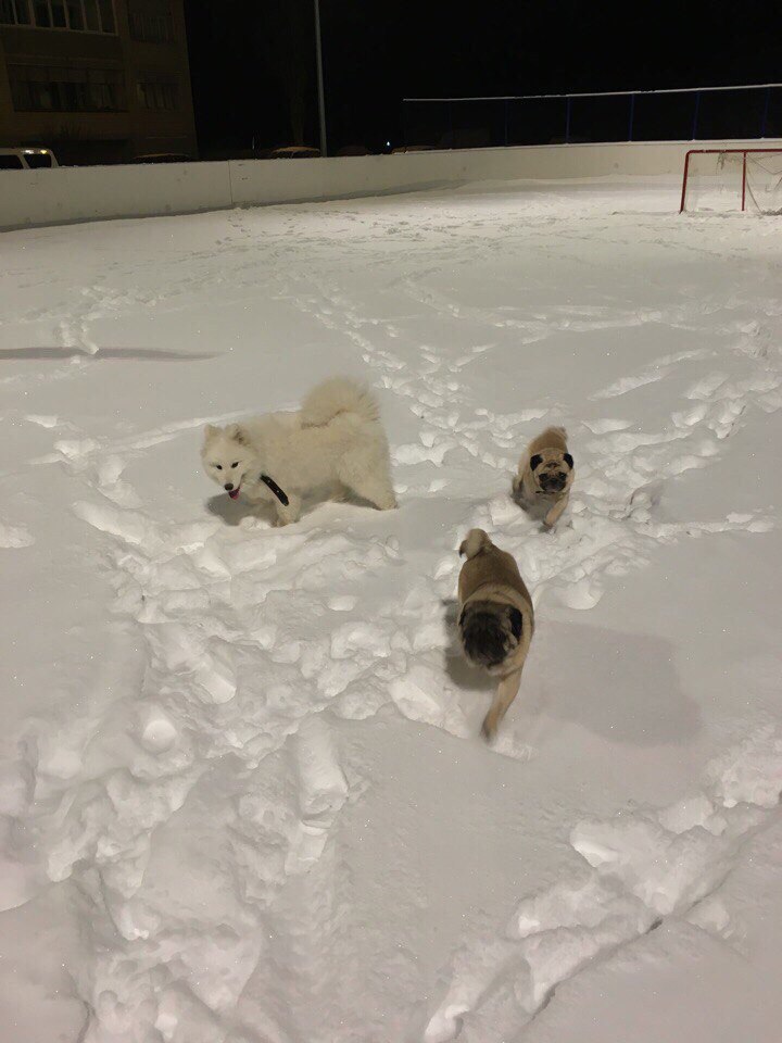
[[[782,214],[782,149],[690,149],[679,213]]]

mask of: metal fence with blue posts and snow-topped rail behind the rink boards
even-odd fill
[[[782,137],[782,84],[499,98],[405,98],[407,148]]]

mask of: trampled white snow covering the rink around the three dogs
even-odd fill
[[[0,240],[9,1043],[777,1043],[782,218],[466,186]],[[332,374],[400,510],[242,520]],[[508,497],[566,424],[571,510]],[[455,548],[538,631],[494,749]]]

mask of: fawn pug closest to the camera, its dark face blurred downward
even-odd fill
[[[483,529],[471,529],[459,548],[467,561],[458,579],[458,632],[472,666],[499,678],[481,729],[490,742],[516,699],[534,630],[532,599],[510,554]]]

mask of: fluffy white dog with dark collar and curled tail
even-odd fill
[[[209,425],[201,458],[231,499],[273,502],[279,525],[299,518],[303,495],[337,483],[380,511],[396,506],[377,402],[345,377],[318,385],[298,413]]]

